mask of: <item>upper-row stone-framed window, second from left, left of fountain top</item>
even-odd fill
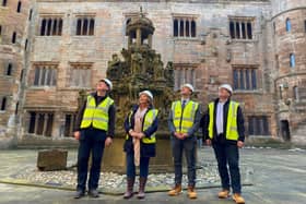
[[[84,29],[84,22],[87,21],[86,29]],[[81,22],[80,33],[78,32],[79,22]],[[78,13],[74,14],[73,36],[95,36],[96,14],[95,13]]]

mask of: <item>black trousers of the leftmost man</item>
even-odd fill
[[[81,131],[79,154],[78,154],[78,187],[76,190],[85,191],[87,180],[89,159],[92,154],[92,166],[89,180],[89,190],[97,189],[101,163],[104,152],[106,132],[87,129]]]

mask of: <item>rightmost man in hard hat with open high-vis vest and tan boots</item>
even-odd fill
[[[239,148],[244,146],[245,141],[245,127],[242,108],[238,103],[231,99],[232,95],[233,88],[229,84],[222,84],[219,87],[219,98],[209,104],[202,128],[203,137],[208,145],[213,146],[217,160],[222,184],[222,191],[217,196],[228,197],[232,187],[233,200],[242,204],[245,200],[242,196],[238,161]]]

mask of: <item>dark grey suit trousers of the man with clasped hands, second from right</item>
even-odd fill
[[[174,156],[174,168],[175,168],[175,184],[181,184],[183,178],[183,152],[185,153],[187,161],[187,177],[188,185],[196,185],[196,144],[195,136],[179,140],[173,136],[173,156]]]

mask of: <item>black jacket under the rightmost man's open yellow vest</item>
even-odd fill
[[[228,113],[228,106],[229,106],[229,101],[231,99],[228,99],[225,104],[224,104],[224,115],[223,115],[223,130],[226,130],[226,125],[227,125],[227,113]],[[224,132],[224,136],[220,137],[216,135],[216,125],[215,125],[215,120],[216,120],[216,107],[217,107],[217,103],[219,103],[219,98],[214,100],[214,125],[213,125],[213,143],[235,143],[236,141],[229,141],[226,140],[226,132]],[[201,120],[201,127],[202,127],[202,133],[203,133],[203,140],[208,140],[209,137],[209,123],[210,123],[210,116],[209,116],[209,108],[207,110],[207,112],[204,113],[202,120]],[[242,108],[238,107],[237,110],[237,131],[239,134],[238,141],[244,142],[245,141],[245,120],[244,120],[244,115],[242,111]]]

